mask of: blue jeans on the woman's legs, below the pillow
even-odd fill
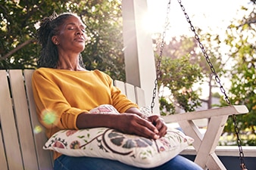
[[[55,170],[202,170],[189,159],[176,156],[156,168],[137,168],[111,159],[72,157],[62,155],[55,159]]]

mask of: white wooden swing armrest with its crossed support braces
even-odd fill
[[[211,110],[200,110],[193,113],[181,113],[163,116],[166,122],[179,122],[184,133],[195,139],[193,147],[196,150],[195,162],[202,168],[226,169],[216,156],[215,149],[220,139],[226,119],[232,114],[248,113],[245,106],[221,107]],[[205,134],[201,134],[193,119],[210,119]]]

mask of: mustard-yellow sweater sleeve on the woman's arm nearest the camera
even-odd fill
[[[46,74],[35,71],[32,83],[39,122],[46,128],[77,129],[76,117],[88,110],[71,107],[58,85]]]

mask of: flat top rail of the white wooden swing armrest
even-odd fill
[[[180,113],[168,116],[162,116],[165,122],[180,122],[183,120],[194,120],[211,118],[212,116],[238,115],[248,113],[248,108],[245,105],[236,105],[229,107],[219,107],[209,110],[199,110],[189,113]]]

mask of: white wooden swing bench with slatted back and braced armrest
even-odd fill
[[[46,141],[44,128],[36,117],[31,76],[33,70],[0,70],[0,165],[2,170],[52,169],[52,154],[42,150]],[[145,106],[144,91],[128,83],[114,84],[130,100]],[[164,116],[166,122],[179,122],[186,134],[195,138],[195,162],[209,169],[226,169],[217,158],[215,148],[226,119],[231,114],[248,113],[245,106],[222,107],[194,113]],[[205,134],[193,119],[209,118]]]

